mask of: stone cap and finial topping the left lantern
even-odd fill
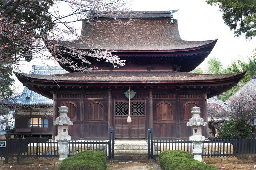
[[[67,116],[68,107],[61,106],[59,107],[59,113],[60,116],[55,119],[53,122],[53,125],[59,125],[59,126],[69,126],[73,125],[73,122],[70,120],[70,118]]]

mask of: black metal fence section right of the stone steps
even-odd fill
[[[153,128],[148,130],[148,159],[166,150],[192,153],[193,144],[185,140],[153,140]],[[202,142],[202,157],[256,157],[256,140],[241,138],[210,138]]]

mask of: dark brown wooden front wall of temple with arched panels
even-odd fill
[[[59,90],[54,99],[57,106],[69,107],[68,117],[74,122],[69,133],[76,139],[106,139],[109,127],[115,129],[116,139],[146,139],[150,127],[158,139],[187,139],[191,128],[186,126],[186,122],[191,118],[192,107],[201,107],[201,117],[207,120],[203,114],[207,95],[203,91],[136,90],[135,87],[136,95],[131,99],[132,122],[127,122],[127,112],[119,114],[117,106],[127,103],[121,105],[127,110],[125,90]],[[133,103],[139,103],[139,106],[133,108]],[[203,129],[203,135],[207,136],[207,128]]]

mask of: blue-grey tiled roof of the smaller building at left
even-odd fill
[[[67,71],[59,66],[32,66],[32,71],[29,73],[53,75],[67,73]],[[53,100],[24,87],[21,94],[3,103],[6,105],[53,105]]]

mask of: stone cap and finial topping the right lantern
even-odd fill
[[[200,107],[191,108],[192,118],[187,122],[187,126],[206,126],[206,122],[200,117]]]

